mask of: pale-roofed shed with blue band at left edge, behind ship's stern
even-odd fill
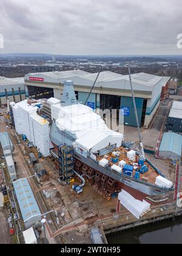
[[[19,102],[25,99],[24,78],[7,78],[0,76],[0,105],[9,101]]]

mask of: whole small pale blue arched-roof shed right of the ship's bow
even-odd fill
[[[164,133],[161,141],[159,155],[165,158],[174,158],[180,161],[182,151],[182,136],[174,132]]]

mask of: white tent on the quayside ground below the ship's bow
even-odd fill
[[[144,213],[150,210],[150,204],[143,200],[143,202],[136,200],[129,193],[122,190],[118,194],[118,200],[120,200],[121,204],[129,210],[132,215],[134,215],[137,219],[140,219]]]

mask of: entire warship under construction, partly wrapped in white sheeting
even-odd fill
[[[173,190],[172,182],[149,160],[123,146],[123,134],[108,129],[92,108],[76,101],[72,81],[64,83],[62,101],[25,100],[12,102],[10,107],[16,132],[25,134],[44,157],[50,155],[51,149],[61,154],[66,145],[73,147],[75,171],[98,186],[98,191],[98,184],[109,194],[122,184],[148,195]],[[69,176],[60,178],[65,177]]]

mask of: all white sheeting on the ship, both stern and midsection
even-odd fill
[[[83,155],[87,152],[92,154],[113,144],[121,146],[123,135],[108,129],[92,108],[79,103],[62,105],[54,98],[47,102],[52,110],[51,129],[49,122],[37,113],[36,104],[41,102],[32,105],[27,100],[10,103],[16,132],[19,135],[25,134],[44,157],[50,155],[50,139],[57,146],[64,143],[74,144],[77,149],[81,149]]]

